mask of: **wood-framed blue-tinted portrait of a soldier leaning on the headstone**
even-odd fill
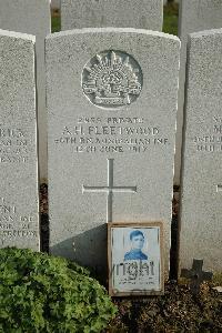
[[[109,294],[164,293],[161,222],[108,224]]]

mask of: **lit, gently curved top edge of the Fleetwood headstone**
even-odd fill
[[[65,30],[61,32],[49,33],[46,39],[57,39],[60,37],[71,36],[71,34],[84,34],[84,33],[99,33],[99,32],[113,32],[113,33],[137,33],[137,34],[147,34],[147,36],[155,36],[161,37],[170,40],[175,40],[180,42],[180,39],[174,34],[169,34],[160,31],[154,30],[147,30],[147,29],[135,29],[135,28],[83,28],[83,29],[73,29],[73,30]]]

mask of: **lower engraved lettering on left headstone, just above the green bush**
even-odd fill
[[[9,245],[14,239],[36,239],[38,231],[33,230],[34,218],[22,215],[14,204],[0,200],[0,240],[1,245]]]

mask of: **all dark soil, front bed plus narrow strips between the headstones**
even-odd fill
[[[170,281],[164,296],[113,299],[119,312],[107,333],[222,333],[222,274],[203,283],[198,295],[192,294],[189,281],[176,282],[179,189],[174,188],[172,219],[172,251]],[[40,186],[41,249],[49,251],[48,186]]]

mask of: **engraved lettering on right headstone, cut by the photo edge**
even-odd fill
[[[195,135],[193,142],[199,152],[222,152],[222,118],[213,115],[209,133]]]

